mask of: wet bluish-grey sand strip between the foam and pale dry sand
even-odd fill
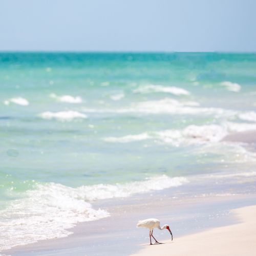
[[[237,222],[230,209],[254,205],[256,195],[239,195],[226,197],[197,197],[161,200],[173,189],[151,194],[138,195],[133,198],[108,200],[104,202],[111,216],[97,221],[78,223],[68,237],[40,240],[33,244],[16,246],[4,250],[3,255],[130,255],[140,251],[141,243],[148,243],[148,232],[136,228],[139,219],[156,217],[161,224],[170,224],[174,239],[207,229],[234,224]],[[100,206],[96,202],[93,206]],[[211,215],[211,222],[207,222]],[[231,217],[231,218],[230,218]],[[170,221],[171,220],[171,221]],[[191,220],[195,220],[191,222]],[[207,223],[205,225],[205,223]],[[162,230],[164,231],[164,230]],[[167,232],[155,233],[160,241],[169,238]]]

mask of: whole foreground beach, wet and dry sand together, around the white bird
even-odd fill
[[[202,248],[202,244],[206,245],[206,241],[209,245],[216,246],[216,241],[212,240],[215,236],[218,236],[217,241],[220,245],[222,243],[225,245],[224,241],[233,243],[233,234],[236,234],[235,238],[237,239],[234,243],[239,241],[239,245],[241,245],[241,241],[246,241],[246,243],[253,241],[251,233],[255,227],[253,215],[255,216],[256,207],[233,209],[255,204],[256,195],[191,198],[188,196],[191,190],[195,191],[196,187],[194,185],[188,187],[187,195],[183,195],[182,198],[168,197],[170,194],[178,196],[180,190],[176,188],[154,193],[154,201],[152,201],[152,194],[138,195],[118,201],[109,200],[104,202],[111,212],[109,218],[79,223],[70,229],[73,234],[66,238],[41,240],[37,243],[13,247],[10,250],[2,251],[2,253],[3,255],[19,256],[146,255],[148,253],[168,255],[167,252],[172,250],[172,255],[176,255],[174,250],[180,253],[179,250],[184,247],[184,243],[188,244],[187,248],[190,246],[194,248],[195,253],[196,249]],[[200,190],[201,188],[198,187],[199,194]],[[100,202],[94,205],[94,207],[97,206],[100,206]],[[136,228],[136,223],[140,219],[152,216],[160,219],[161,224],[168,223],[171,226],[174,234],[172,243],[170,240],[166,240],[169,239],[168,232],[156,230],[155,237],[161,242],[165,241],[166,244],[147,246],[148,231]],[[248,226],[250,231],[245,232]],[[244,233],[246,234],[244,235]],[[198,246],[199,243],[200,246]],[[181,251],[181,253],[184,254],[177,255],[187,255],[186,251]],[[189,254],[191,253],[189,252]],[[197,255],[197,253],[193,255]]]

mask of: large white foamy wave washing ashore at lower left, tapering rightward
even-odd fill
[[[88,201],[129,197],[137,193],[177,187],[187,183],[184,177],[158,176],[125,184],[97,184],[72,188],[56,183],[39,184],[22,199],[0,211],[0,250],[39,240],[67,237],[78,222],[109,216],[92,208]]]

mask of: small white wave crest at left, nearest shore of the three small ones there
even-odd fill
[[[43,119],[56,119],[58,121],[72,121],[73,119],[84,119],[87,115],[79,113],[77,111],[60,111],[60,112],[44,112],[39,114]]]

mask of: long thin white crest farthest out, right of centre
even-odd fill
[[[189,95],[185,89],[179,87],[164,87],[155,84],[148,84],[147,86],[140,86],[139,88],[133,90],[134,93],[153,93],[153,92],[161,92],[161,93],[172,93],[174,95]]]

